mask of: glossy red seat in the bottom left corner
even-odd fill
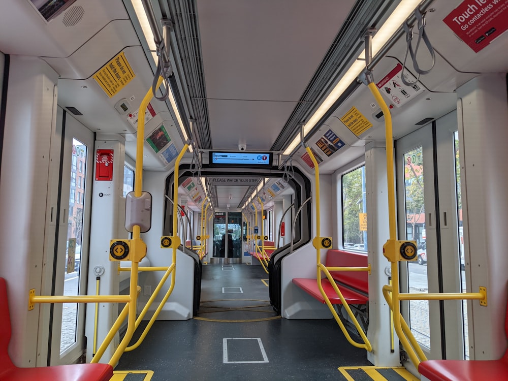
[[[73,364],[37,368],[15,366],[7,347],[11,340],[11,320],[7,300],[7,285],[0,278],[0,380],[2,381],[108,381],[113,377],[109,364]]]

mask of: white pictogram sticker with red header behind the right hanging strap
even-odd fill
[[[407,70],[404,72],[404,79],[412,85],[402,82],[402,65],[397,63],[390,73],[376,83],[379,91],[396,107],[415,99],[415,96],[423,91],[423,85]]]

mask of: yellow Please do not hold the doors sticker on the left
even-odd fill
[[[112,98],[118,91],[124,88],[134,77],[136,75],[132,71],[131,65],[129,65],[129,61],[125,58],[123,52],[119,53],[93,75],[93,79],[99,83],[99,86],[108,94],[109,98]]]

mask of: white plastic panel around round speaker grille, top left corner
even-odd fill
[[[82,17],[66,26],[63,18],[76,7],[82,8]],[[8,54],[68,57],[110,21],[128,18],[121,0],[77,0],[49,22],[29,0],[3,0],[0,47]]]

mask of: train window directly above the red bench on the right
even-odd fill
[[[367,251],[365,166],[342,175],[342,247]]]

